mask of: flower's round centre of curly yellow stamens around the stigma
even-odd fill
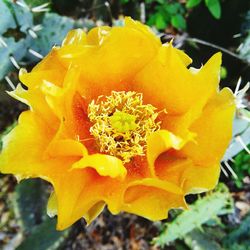
[[[112,91],[99,96],[88,106],[93,123],[90,133],[100,151],[119,157],[124,163],[134,156],[143,156],[149,134],[160,129],[158,112],[151,104],[143,104],[143,96],[133,91]]]

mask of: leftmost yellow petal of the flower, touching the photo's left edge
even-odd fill
[[[31,111],[23,112],[18,125],[3,139],[0,171],[24,177],[44,175],[43,151],[52,136],[53,131],[38,115]]]

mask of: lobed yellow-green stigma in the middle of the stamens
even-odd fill
[[[136,116],[122,111],[115,111],[109,118],[110,124],[119,133],[126,133],[136,129]]]

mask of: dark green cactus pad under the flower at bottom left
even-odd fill
[[[14,193],[14,212],[22,233],[19,250],[58,249],[69,236],[70,229],[56,230],[56,219],[47,216],[48,184],[39,179],[21,181]]]

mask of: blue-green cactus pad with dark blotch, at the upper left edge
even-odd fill
[[[23,1],[20,3],[24,4]],[[14,1],[1,0],[0,10],[1,20],[4,20],[0,29],[1,80],[10,70],[20,68],[19,61],[23,59],[33,40],[30,32],[34,24],[32,12]]]

